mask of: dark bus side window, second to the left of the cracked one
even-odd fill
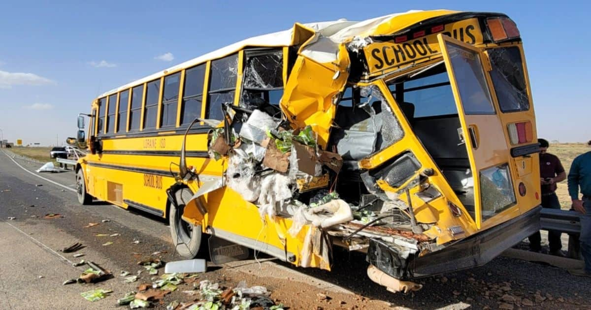
[[[194,119],[201,117],[205,66],[205,64],[200,64],[185,71],[181,125],[189,125]]]

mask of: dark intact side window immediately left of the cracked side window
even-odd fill
[[[222,104],[234,102],[238,73],[238,54],[212,61],[206,119],[223,119]]]

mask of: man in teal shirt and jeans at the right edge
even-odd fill
[[[591,141],[587,143],[591,146]],[[583,199],[579,199],[579,188]],[[591,276],[591,152],[577,156],[570,166],[569,194],[574,210],[581,214],[579,242],[585,261],[584,270],[574,270],[571,273]]]

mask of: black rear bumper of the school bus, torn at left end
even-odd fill
[[[388,275],[402,280],[482,266],[540,230],[540,210],[541,206],[535,207],[519,217],[421,257],[401,259],[397,249],[372,240],[368,261]],[[392,260],[394,257],[397,259]]]

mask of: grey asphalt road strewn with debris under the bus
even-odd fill
[[[16,161],[28,171],[40,167],[30,161]],[[0,309],[111,308],[125,292],[150,282],[148,275],[142,275],[139,282],[122,283],[118,276],[121,270],[141,270],[138,260],[157,251],[167,252],[158,256],[165,261],[181,259],[173,254],[165,221],[101,202],[81,206],[75,192],[35,176],[73,188],[72,172],[33,175],[22,168],[0,152],[0,234],[5,236],[0,239],[0,251],[4,253],[0,260]],[[44,218],[49,213],[63,217]],[[85,228],[89,223],[100,224]],[[96,236],[114,233],[120,235]],[[115,278],[95,285],[62,286],[64,280],[77,278],[83,271],[83,267],[71,265],[79,259],[57,252],[74,242],[86,246],[77,252],[85,253],[80,258],[101,264]],[[113,243],[103,246],[107,242]],[[264,285],[272,291],[272,298],[291,309],[518,309],[527,308],[525,299],[537,309],[591,308],[591,278],[524,260],[498,257],[482,267],[421,280],[421,291],[403,295],[390,293],[366,277],[368,264],[363,254],[335,249],[334,258],[332,272],[291,267],[264,257],[259,262],[245,260],[209,267],[200,279],[226,286],[240,280],[246,280],[248,285]],[[111,289],[113,293],[97,302],[80,296],[80,292],[96,288]],[[165,301],[189,301],[191,298],[180,292],[186,289],[171,293]],[[318,293],[330,298],[320,300]]]

